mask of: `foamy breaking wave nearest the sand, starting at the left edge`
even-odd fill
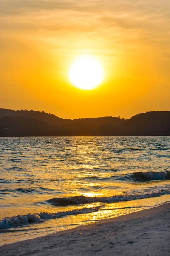
[[[41,213],[35,213],[35,214],[29,213],[27,215],[17,215],[10,218],[7,217],[0,220],[0,229],[14,228],[14,227],[20,227],[20,226],[25,226],[29,224],[40,223],[45,220],[62,218],[69,215],[78,215],[78,214],[97,212],[99,211],[100,207],[102,206],[76,209],[76,210],[66,211],[66,212],[56,212],[56,213],[41,212]]]

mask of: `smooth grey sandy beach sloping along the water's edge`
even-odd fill
[[[5,245],[0,255],[170,255],[170,204]]]

